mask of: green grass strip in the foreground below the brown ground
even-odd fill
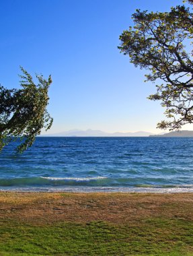
[[[0,255],[193,255],[193,223],[187,220],[0,224]]]

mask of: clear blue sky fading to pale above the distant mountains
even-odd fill
[[[155,85],[117,46],[135,9],[169,11],[181,0],[1,0],[0,83],[20,88],[20,65],[52,75],[47,133],[150,131],[164,119],[147,99]],[[188,125],[184,129],[192,129]],[[43,132],[44,133],[44,132]]]

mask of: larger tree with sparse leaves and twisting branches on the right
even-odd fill
[[[161,129],[193,123],[192,16],[184,5],[163,13],[137,9],[133,28],[120,35],[120,52],[129,55],[135,66],[150,71],[146,81],[158,82],[157,92],[149,99],[161,100],[166,107],[167,121],[157,124]]]

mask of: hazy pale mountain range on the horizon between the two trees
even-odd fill
[[[148,131],[137,131],[134,133],[106,133],[100,130],[91,130],[88,129],[86,131],[81,130],[71,130],[64,131],[62,133],[53,133],[53,134],[44,134],[41,136],[46,137],[148,137],[149,135],[153,135],[153,133],[149,133]]]

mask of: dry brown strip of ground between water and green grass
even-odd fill
[[[1,192],[0,218],[32,223],[138,222],[166,217],[193,221],[192,193]]]

